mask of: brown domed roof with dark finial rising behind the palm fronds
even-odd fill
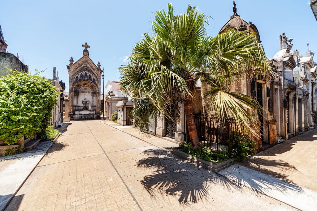
[[[257,30],[256,26],[251,21],[247,23],[245,20],[243,20],[237,14],[236,3],[233,2],[233,5],[233,15],[230,16],[230,20],[224,24],[218,34],[223,33],[228,28],[234,28],[237,31],[247,31],[249,33],[255,32],[257,40],[261,42],[259,31]]]

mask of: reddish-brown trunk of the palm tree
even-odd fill
[[[194,116],[193,116],[193,99],[192,98],[184,100],[184,112],[186,116],[189,137],[191,139],[191,146],[193,147],[193,149],[201,148],[199,139],[198,139],[195,121],[194,121]]]

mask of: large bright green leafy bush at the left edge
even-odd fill
[[[10,72],[0,79],[0,140],[8,145],[44,130],[58,99],[55,87],[38,72]]]

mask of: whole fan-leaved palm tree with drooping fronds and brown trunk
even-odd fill
[[[173,119],[178,102],[184,112],[192,147],[201,147],[193,117],[193,91],[199,78],[209,84],[205,102],[214,115],[233,119],[238,131],[257,134],[252,125],[258,121],[248,113],[258,104],[255,99],[231,92],[231,80],[243,74],[268,78],[269,65],[254,33],[228,30],[214,38],[206,33],[209,16],[188,5],[187,12],[155,14],[153,36],[144,38],[133,48],[128,64],[120,66],[121,89],[133,96],[131,115],[139,128],[145,128],[149,117],[158,113]]]

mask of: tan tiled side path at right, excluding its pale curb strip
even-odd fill
[[[257,153],[240,164],[316,192],[317,129]]]

